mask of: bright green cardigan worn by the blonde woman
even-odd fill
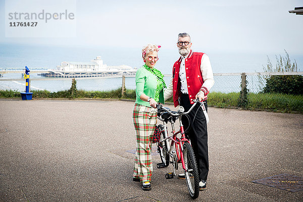
[[[149,72],[145,68],[139,68],[136,72],[136,103],[150,107],[148,102],[140,99],[141,94],[145,94],[149,97],[155,97],[157,90],[157,76]],[[163,89],[160,91],[159,103],[164,104]]]

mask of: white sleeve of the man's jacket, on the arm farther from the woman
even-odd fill
[[[206,91],[208,92],[213,87],[215,80],[210,58],[206,54],[203,54],[201,58],[200,70],[202,72],[204,81],[203,85],[201,86],[201,90],[205,91],[206,88]]]

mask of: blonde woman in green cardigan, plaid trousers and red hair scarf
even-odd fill
[[[155,69],[160,46],[147,44],[142,49],[144,65],[136,72],[136,102],[133,122],[136,130],[137,149],[133,181],[140,181],[143,190],[150,190],[153,163],[151,142],[157,122],[157,103],[164,103],[163,88],[166,88],[163,74]]]

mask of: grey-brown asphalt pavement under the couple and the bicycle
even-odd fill
[[[0,99],[0,201],[191,201],[184,180],[165,178],[171,165],[157,169],[155,149],[152,189],[132,181],[133,105]],[[194,201],[303,201],[251,182],[303,177],[303,115],[210,107],[209,117],[208,188]]]

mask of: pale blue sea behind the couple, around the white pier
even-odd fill
[[[241,72],[263,72],[271,60],[273,66],[276,64],[276,57],[285,57],[284,50],[279,53],[247,53],[247,52],[220,52],[207,50],[194,50],[206,53],[211,61],[214,73],[241,73]],[[296,61],[298,71],[303,71],[303,54],[289,53],[291,63]],[[101,56],[104,64],[109,66],[128,65],[140,68],[143,65],[141,48],[133,47],[79,47],[79,46],[45,46],[45,45],[25,45],[25,44],[0,44],[0,70],[6,68],[31,68],[57,69],[63,61],[68,62],[89,62]],[[180,57],[178,49],[161,48],[158,53],[159,61],[156,68],[163,74],[170,75],[172,66]],[[0,78],[0,89],[13,89],[22,91],[25,88],[23,81],[1,81],[1,79],[22,79],[20,73],[3,74]],[[31,78],[43,78],[36,73],[30,75]],[[165,78],[169,82],[169,77]],[[216,81],[216,78],[215,78]],[[257,81],[255,81],[257,82]],[[220,84],[221,83],[221,84]],[[112,79],[88,79],[79,80],[77,85],[85,90],[111,90],[121,87],[120,78]],[[220,78],[216,81],[215,88],[230,86],[225,92],[239,90],[239,78],[236,81],[232,78]],[[46,89],[49,91],[65,90],[70,88],[69,81],[32,81],[31,89]],[[134,89],[134,78],[127,78],[126,88]]]

